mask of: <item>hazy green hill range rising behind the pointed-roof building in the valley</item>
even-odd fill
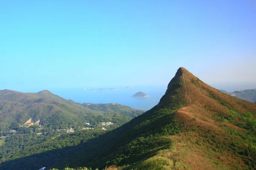
[[[38,93],[0,91],[0,131],[17,130],[28,119],[41,120],[43,127],[54,129],[82,128],[86,123],[100,125],[113,122],[120,126],[144,111],[124,105],[95,104],[95,109],[67,100],[44,90]],[[117,119],[115,119],[117,118]]]

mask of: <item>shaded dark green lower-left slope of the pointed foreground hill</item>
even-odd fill
[[[6,161],[1,164],[1,167],[17,169],[20,168],[20,164],[23,164],[24,167],[32,169],[44,166],[64,168],[65,164],[69,164],[70,167],[79,167],[84,164],[83,162],[93,168],[101,168],[109,164],[129,167],[131,164],[154,156],[158,150],[171,147],[172,142],[163,136],[175,135],[182,131],[180,123],[175,120],[174,112],[180,107],[180,104],[173,104],[160,110],[153,108],[124,126],[97,138],[93,137],[99,133],[93,133],[91,130],[90,133],[93,134],[90,134],[90,137],[93,139],[88,141],[83,139],[88,139],[89,134],[82,136],[85,133],[82,131],[81,134],[62,135],[52,141],[34,144],[15,154],[15,157],[23,157],[15,159],[15,164],[13,161]],[[86,133],[89,133],[89,130],[87,131]],[[58,149],[61,147],[64,148]],[[31,154],[34,155],[29,156]]]

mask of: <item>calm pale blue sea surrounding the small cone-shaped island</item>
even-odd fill
[[[120,88],[120,87],[119,87]],[[57,94],[65,99],[71,99],[75,102],[83,103],[119,103],[130,106],[134,109],[149,110],[153,108],[166,91],[165,86],[147,86],[131,90],[119,91],[91,91],[93,88],[76,89],[49,89],[53,94]],[[94,88],[96,89],[96,88]],[[147,98],[131,98],[135,93],[142,91],[150,97]]]

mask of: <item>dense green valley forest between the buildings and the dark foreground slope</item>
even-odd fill
[[[48,150],[76,146],[104,133],[104,130],[81,130],[72,134],[51,130],[47,135],[14,134],[7,137],[0,147],[0,160],[3,162]]]

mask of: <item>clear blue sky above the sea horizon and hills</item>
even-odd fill
[[[256,85],[256,1],[0,0],[0,89],[167,86],[181,66]]]

